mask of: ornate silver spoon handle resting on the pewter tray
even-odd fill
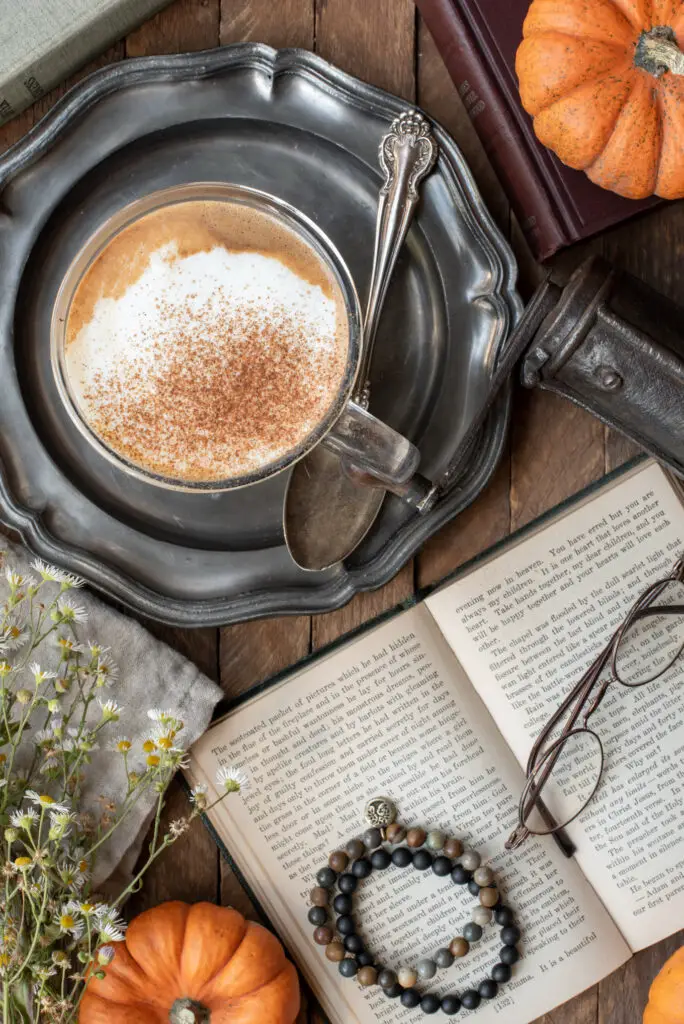
[[[354,393],[354,401],[364,409],[368,409],[370,400],[373,346],[387,285],[418,203],[418,185],[437,159],[437,143],[422,114],[407,111],[392,121],[380,142],[379,158],[385,183],[380,190],[371,287]]]

